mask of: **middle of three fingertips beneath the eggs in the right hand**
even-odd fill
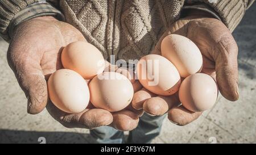
[[[180,103],[177,95],[158,96],[147,99],[143,104],[143,109],[150,115],[160,116],[165,114],[170,108]]]

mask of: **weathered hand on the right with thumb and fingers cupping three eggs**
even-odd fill
[[[168,34],[183,35],[199,47],[203,55],[202,73],[216,79],[218,89],[228,100],[238,99],[238,47],[232,33],[217,19],[207,14],[192,12],[180,19],[160,38],[152,53],[160,55],[160,45]],[[163,115],[177,125],[186,125],[199,118],[202,112],[191,112],[180,105],[178,93],[171,96],[157,96],[146,89],[134,95],[133,107],[144,108],[151,115]]]

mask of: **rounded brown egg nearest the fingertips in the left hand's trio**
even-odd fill
[[[89,83],[90,102],[96,108],[110,112],[120,111],[133,99],[133,85],[120,73],[104,72]]]

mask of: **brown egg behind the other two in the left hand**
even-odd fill
[[[76,41],[64,47],[61,62],[64,68],[76,71],[85,79],[92,79],[105,67],[101,52],[85,41]]]

